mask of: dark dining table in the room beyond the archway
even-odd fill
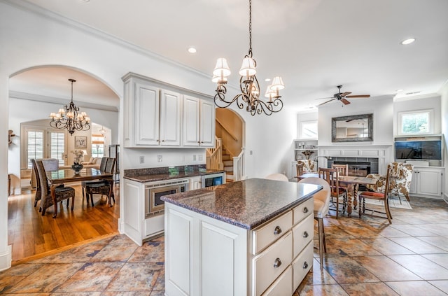
[[[81,169],[77,174],[73,169],[57,169],[54,171],[45,171],[47,175],[48,182],[50,183],[51,197],[53,199],[53,204],[55,205],[54,217],[57,216],[57,202],[55,195],[55,188],[63,183],[80,182],[80,181],[94,181],[94,180],[105,180],[111,182],[111,192],[109,196],[113,196],[113,174],[107,173],[106,171],[100,171],[99,169],[86,168]],[[110,199],[109,199],[110,202]],[[87,203],[88,204],[88,203]]]

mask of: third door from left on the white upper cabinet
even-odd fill
[[[200,146],[200,99],[183,97],[183,146]]]

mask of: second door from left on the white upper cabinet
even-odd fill
[[[160,92],[160,145],[181,145],[181,94]]]

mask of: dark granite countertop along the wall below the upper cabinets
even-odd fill
[[[223,173],[219,169],[206,169],[204,167],[164,167],[153,169],[133,169],[125,170],[123,178],[140,183],[165,181],[179,178],[191,178],[195,176]]]

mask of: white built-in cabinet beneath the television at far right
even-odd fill
[[[419,197],[442,197],[442,167],[414,167],[410,193]]]

